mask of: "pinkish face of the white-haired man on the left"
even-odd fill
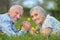
[[[10,17],[13,20],[13,22],[17,22],[21,16],[22,16],[22,10],[20,8],[15,8],[10,11]]]

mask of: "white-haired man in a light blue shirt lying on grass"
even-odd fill
[[[22,14],[23,8],[20,5],[14,5],[8,13],[0,14],[0,31],[2,30],[8,36],[26,33],[25,30],[16,30],[13,25],[21,18]]]

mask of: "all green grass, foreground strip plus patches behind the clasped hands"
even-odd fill
[[[22,17],[16,24],[15,27],[18,29],[21,23],[25,20],[27,20],[28,17]],[[30,20],[29,21],[33,27],[36,26],[36,24]],[[11,36],[8,37],[5,34],[0,34],[0,40],[60,40],[60,36],[42,36],[41,34],[31,35],[30,33],[23,34],[21,36]]]

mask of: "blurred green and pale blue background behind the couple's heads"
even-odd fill
[[[0,0],[0,13],[6,13],[15,4],[23,6],[24,17],[30,17],[29,11],[32,7],[41,6],[60,21],[60,0]]]

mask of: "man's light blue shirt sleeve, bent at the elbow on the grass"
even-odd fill
[[[25,33],[26,33],[26,30],[20,30],[20,31],[18,31],[18,32],[14,32],[14,31],[9,27],[9,25],[10,25],[10,24],[7,25],[6,23],[3,23],[3,24],[1,25],[2,31],[3,31],[6,35],[8,35],[8,36],[16,36],[16,35],[21,36],[22,34],[25,34]]]

